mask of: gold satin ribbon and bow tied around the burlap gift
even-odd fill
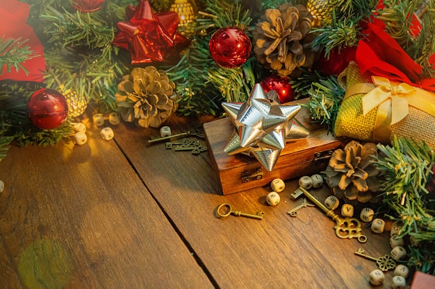
[[[391,125],[402,121],[409,114],[409,105],[435,116],[434,104],[416,96],[415,87],[407,83],[390,82],[388,78],[381,76],[372,76],[372,82],[350,87],[345,98],[365,93],[362,98],[364,116],[378,107],[373,129],[374,141],[389,142]]]

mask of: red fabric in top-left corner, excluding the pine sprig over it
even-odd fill
[[[23,63],[28,70],[28,75],[22,69],[16,72],[14,67],[8,73],[6,65],[3,65],[0,80],[44,81],[42,78],[42,72],[45,71],[44,48],[33,28],[26,24],[28,12],[29,7],[26,3],[17,0],[0,0],[0,35],[5,36],[4,40],[10,38],[17,40],[19,37],[22,37],[22,41],[28,40],[23,46],[29,46],[35,55],[39,55]]]

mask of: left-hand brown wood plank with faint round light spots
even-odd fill
[[[84,146],[0,162],[0,288],[214,288],[115,141],[87,126]]]

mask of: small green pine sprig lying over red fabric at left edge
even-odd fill
[[[22,37],[17,39],[8,38],[5,35],[0,37],[0,75],[3,74],[3,67],[6,65],[6,73],[10,73],[12,68],[15,71],[24,70],[28,74],[28,70],[24,67],[26,60],[31,60],[40,55],[35,54],[29,46],[23,46],[28,40],[22,40]]]

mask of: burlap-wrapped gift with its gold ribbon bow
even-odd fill
[[[421,139],[435,148],[435,94],[361,74],[356,62],[339,80],[346,94],[336,118],[336,137],[390,143],[397,135]]]

